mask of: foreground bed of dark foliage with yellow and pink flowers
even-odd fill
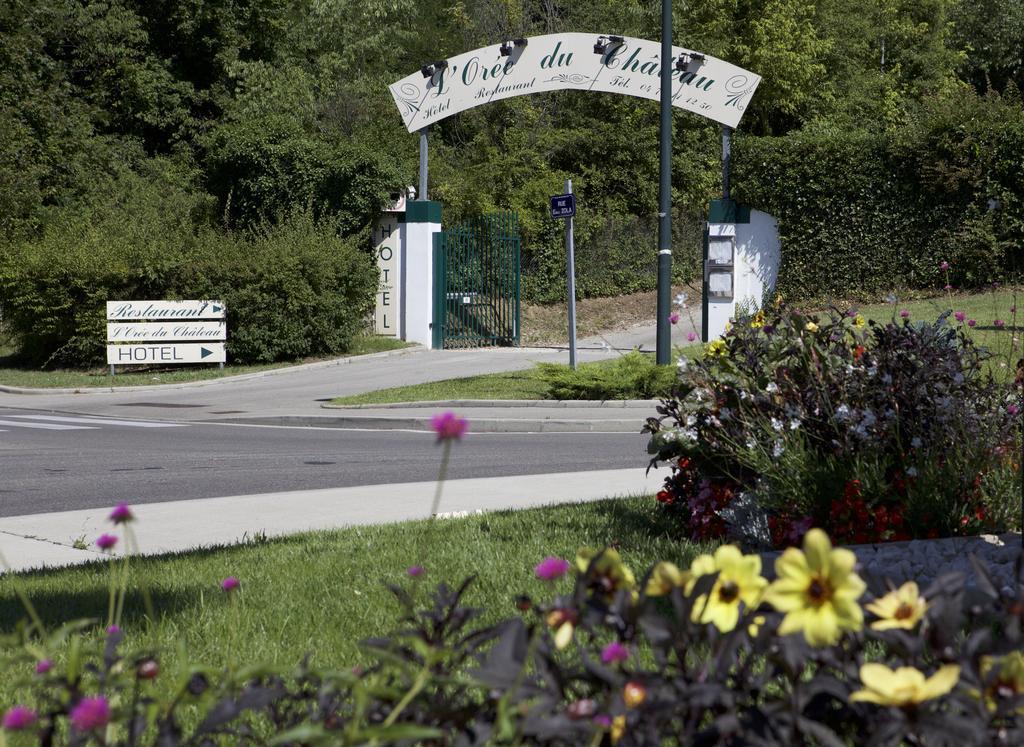
[[[464,601],[471,579],[421,601],[417,575],[392,587],[398,628],[365,641],[375,663],[351,670],[175,675],[131,631],[97,640],[87,622],[51,634],[30,623],[2,650],[34,706],[10,706],[3,722],[15,741],[167,747],[1020,744],[1024,564],[1002,594],[979,564],[980,604],[965,604],[953,574],[862,607],[855,559],[815,531],[771,584],[759,556],[731,545],[687,570],[659,563],[638,583],[613,549],[584,548],[574,568],[537,569],[552,584],[572,569],[569,593],[519,597],[523,614],[492,626]],[[222,586],[232,604],[244,593]]]

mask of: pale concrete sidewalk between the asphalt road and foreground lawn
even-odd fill
[[[665,470],[647,473],[644,466],[638,466],[452,480],[444,484],[440,515],[646,495],[660,490],[665,474]],[[154,555],[264,536],[426,518],[435,486],[433,482],[371,485],[146,503],[132,506],[137,518],[134,530],[139,552]],[[93,543],[103,532],[113,531],[108,521],[110,510],[4,517],[0,521],[0,553],[12,571],[102,559],[105,556]]]

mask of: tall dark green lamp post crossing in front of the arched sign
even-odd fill
[[[658,365],[672,352],[672,0],[662,0],[662,155],[657,210]]]

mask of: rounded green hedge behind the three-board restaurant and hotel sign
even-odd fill
[[[53,215],[37,240],[0,247],[5,330],[28,365],[101,364],[105,302],[218,298],[228,358],[344,351],[373,307],[377,268],[332,223],[300,213],[246,233],[207,227],[212,207],[173,182],[124,173],[101,205]]]

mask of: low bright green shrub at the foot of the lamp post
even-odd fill
[[[584,364],[575,371],[556,363],[538,364],[538,369],[556,400],[649,400],[671,391],[675,379],[671,368],[639,350],[608,363]]]

